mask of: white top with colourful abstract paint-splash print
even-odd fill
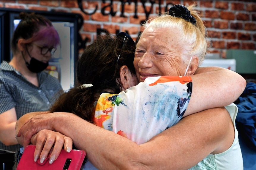
[[[102,93],[94,121],[137,144],[145,143],[180,121],[191,93],[190,76],[148,77],[119,94]]]

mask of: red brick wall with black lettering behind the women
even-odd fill
[[[96,12],[92,15],[83,13],[79,8],[79,1],[85,13],[93,13],[97,6]],[[194,0],[155,0],[153,5],[152,0],[147,0],[144,6],[143,0],[133,0],[131,3],[126,2],[124,8],[120,0],[104,2],[102,0],[0,0],[0,7],[80,13],[84,19],[80,35],[83,40],[87,38],[88,45],[95,39],[97,29],[106,30],[110,34],[126,31],[136,41],[141,30],[140,23],[147,17],[164,12],[172,4],[188,5]],[[110,8],[111,3],[112,8]],[[198,0],[196,3],[208,30],[211,42],[209,52],[225,58],[226,49],[256,49],[255,1]]]

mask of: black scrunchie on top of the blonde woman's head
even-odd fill
[[[190,14],[190,11],[185,7],[184,5],[173,5],[169,9],[169,15],[173,17],[180,17],[184,20],[192,23],[193,25],[196,25],[196,19]]]

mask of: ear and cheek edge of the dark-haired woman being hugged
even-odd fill
[[[126,90],[127,88],[138,84],[136,75],[133,75],[126,65],[120,68],[119,74],[122,90]]]

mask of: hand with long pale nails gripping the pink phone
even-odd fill
[[[73,141],[59,132],[44,129],[32,136],[31,143],[36,145],[34,161],[40,158],[40,162],[43,163],[50,153],[49,163],[51,164],[58,158],[63,146],[67,152],[71,151]]]

